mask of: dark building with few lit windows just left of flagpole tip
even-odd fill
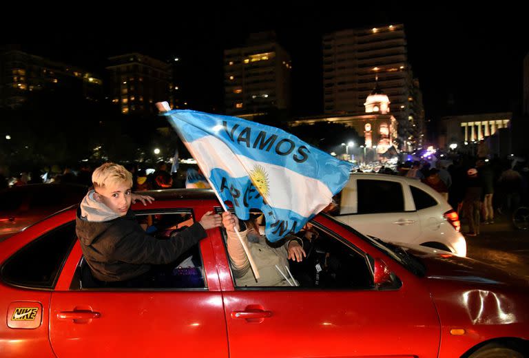
[[[110,57],[109,61],[109,90],[121,113],[157,113],[154,103],[169,98],[171,65],[138,53]]]

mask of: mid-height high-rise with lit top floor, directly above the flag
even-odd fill
[[[247,45],[224,52],[225,109],[244,115],[291,108],[291,59],[273,32],[251,34]]]

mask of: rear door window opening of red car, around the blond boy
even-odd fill
[[[183,231],[194,224],[191,211],[176,213],[139,213],[136,214],[141,227],[157,240],[169,240],[171,235]],[[199,244],[180,255],[169,264],[152,265],[149,274],[134,285],[116,282],[104,284],[96,280],[85,260],[79,262],[71,290],[86,288],[206,288],[205,272]]]

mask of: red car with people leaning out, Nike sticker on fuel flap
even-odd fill
[[[138,220],[164,240],[209,210],[211,191],[151,192]],[[1,357],[526,357],[529,290],[491,266],[366,238],[328,215],[300,286],[237,287],[225,232],[152,277],[98,288],[76,207],[0,243]],[[420,251],[418,251],[420,250]]]

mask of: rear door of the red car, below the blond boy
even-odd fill
[[[167,228],[158,229],[165,235]],[[52,293],[50,342],[56,356],[227,357],[222,295],[209,238],[200,241],[197,251],[200,287],[83,288],[77,242]]]

